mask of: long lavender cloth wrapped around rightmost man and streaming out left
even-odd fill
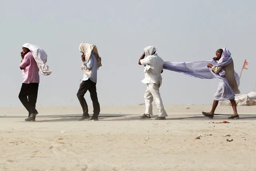
[[[211,68],[207,67],[207,64],[212,64],[213,66],[226,66],[230,64],[232,58],[231,53],[224,48],[222,57],[219,61],[209,60],[209,61],[200,61],[200,62],[164,62],[163,69],[170,70],[174,72],[179,72],[187,76],[201,78],[201,79],[213,79],[218,78],[220,84],[218,90],[214,95],[214,99],[218,101],[225,101],[235,98],[235,93],[228,84],[228,80],[224,78],[225,71],[222,71],[218,74],[212,72]],[[235,72],[236,83],[239,86],[240,78]]]

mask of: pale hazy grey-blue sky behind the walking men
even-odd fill
[[[101,105],[144,103],[146,85],[138,59],[153,45],[164,61],[210,60],[228,48],[241,77],[240,91],[256,81],[254,0],[1,0],[0,106],[22,106],[19,69],[24,43],[44,48],[50,76],[40,74],[37,106],[80,105],[83,72],[79,44],[97,45],[102,57],[97,91]],[[160,89],[164,104],[211,104],[218,80],[168,70]],[[89,92],[86,99],[91,105]]]

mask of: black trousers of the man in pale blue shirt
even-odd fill
[[[77,97],[79,102],[83,108],[83,115],[89,115],[88,113],[88,105],[85,101],[85,93],[89,90],[91,95],[91,100],[93,101],[93,117],[97,118],[100,113],[100,105],[96,92],[96,83],[91,81],[90,79],[83,81],[80,85],[80,88],[77,92]]]

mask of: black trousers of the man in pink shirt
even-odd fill
[[[24,107],[27,109],[28,116],[38,113],[36,110],[38,85],[39,83],[22,83],[20,89],[19,99]]]

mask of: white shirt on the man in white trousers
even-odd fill
[[[161,71],[163,70],[163,60],[157,54],[149,55],[144,59],[140,60],[141,65],[149,65],[150,69],[145,73],[145,78],[141,81],[144,84],[155,83],[161,85],[162,76]]]

